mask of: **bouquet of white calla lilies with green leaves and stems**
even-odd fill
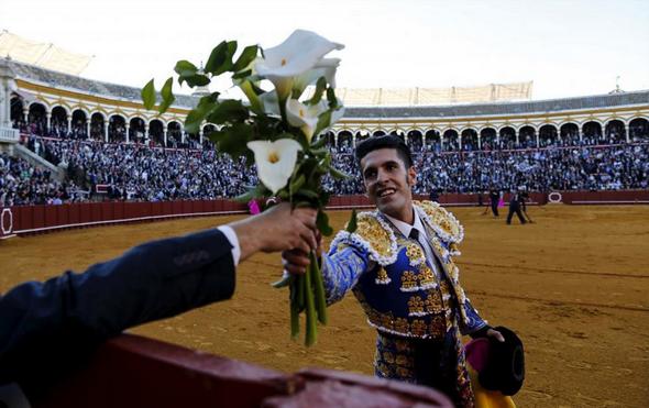
[[[323,209],[329,195],[322,190],[321,179],[346,177],[331,164],[326,139],[317,140],[322,131],[336,123],[344,108],[336,97],[338,58],[324,56],[342,44],[322,36],[297,30],[282,44],[262,49],[257,45],[243,48],[235,58],[235,41],[223,41],[211,52],[205,68],[188,60],[179,60],[175,71],[178,84],[202,87],[222,74],[230,74],[246,100],[223,99],[220,92],[202,97],[185,120],[187,133],[198,133],[204,123],[212,123],[216,131],[206,136],[216,143],[219,152],[232,157],[246,157],[255,163],[260,184],[252,187],[240,200],[279,197],[295,207],[318,209],[317,225],[323,235],[332,229]],[[264,86],[267,85],[264,89]],[[272,87],[271,87],[272,85]],[[314,90],[305,97],[307,88]],[[165,112],[174,102],[173,77],[163,85],[157,106]],[[153,79],[142,89],[146,109],[154,109],[156,91]],[[299,334],[299,313],[306,312],[306,345],[317,338],[317,321],[327,323],[327,305],[322,277],[317,257],[305,275],[285,274],[274,284],[289,286],[290,332]]]

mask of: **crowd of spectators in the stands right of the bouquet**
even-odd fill
[[[526,186],[532,191],[649,188],[649,144],[572,146],[492,152],[415,153],[415,192],[483,192]],[[352,154],[336,153],[334,165],[350,179],[327,178],[336,194],[362,194]]]

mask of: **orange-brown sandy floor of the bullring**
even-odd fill
[[[525,343],[519,407],[649,406],[649,207],[532,207],[537,223],[509,227],[476,208],[453,212],[465,227],[458,263],[466,293],[485,318],[516,330]],[[349,213],[331,217],[341,228]],[[230,220],[0,242],[0,291],[66,268],[82,271],[150,239]],[[240,265],[232,300],[133,331],[286,372],[315,365],[371,374],[374,332],[353,296],[330,308],[330,324],[306,350],[288,339],[287,293],[268,285],[279,274],[278,255],[256,255]]]

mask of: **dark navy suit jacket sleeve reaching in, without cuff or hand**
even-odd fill
[[[38,359],[80,354],[130,327],[230,298],[231,247],[208,230],[145,243],[82,274],[16,286],[0,297],[0,383],[28,361],[41,370]]]

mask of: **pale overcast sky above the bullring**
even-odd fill
[[[339,87],[534,80],[534,99],[649,89],[649,0],[0,1],[0,29],[95,55],[85,77],[141,87],[221,40],[295,29],[345,44]]]

